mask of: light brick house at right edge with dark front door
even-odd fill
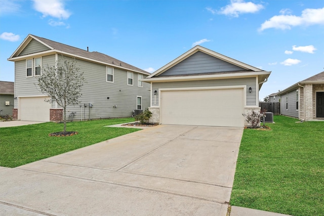
[[[278,93],[281,114],[304,121],[324,119],[324,71]]]

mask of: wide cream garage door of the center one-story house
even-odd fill
[[[161,91],[160,123],[244,127],[243,89]]]

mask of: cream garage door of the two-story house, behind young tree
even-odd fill
[[[45,102],[47,97],[20,98],[18,119],[28,121],[50,121],[51,104]],[[47,98],[48,99],[48,98]]]

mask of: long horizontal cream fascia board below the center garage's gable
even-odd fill
[[[211,75],[196,75],[196,76],[176,76],[164,78],[145,78],[140,79],[144,82],[172,82],[172,81],[189,81],[189,80],[204,80],[204,79],[226,79],[226,78],[242,78],[242,77],[255,77],[258,75],[269,75],[271,72],[248,72],[248,73],[227,73],[227,74],[211,74]]]

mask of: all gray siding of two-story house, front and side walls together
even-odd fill
[[[59,55],[59,59],[62,57]],[[66,60],[71,58],[64,57]],[[42,57],[42,71],[45,67],[55,64],[55,55]],[[143,82],[143,87],[137,86],[137,73],[133,73],[133,85],[127,85],[127,71],[114,69],[114,82],[106,82],[106,66],[76,59],[76,66],[84,72],[87,80],[83,89],[79,105],[68,106],[66,117],[76,112],[73,120],[81,117],[89,119],[89,103],[93,104],[90,110],[91,119],[130,117],[133,110],[137,109],[137,96],[142,97],[142,109],[150,106],[150,84]],[[146,75],[143,75],[145,78]],[[38,91],[37,77],[26,77],[26,60],[15,62],[15,96],[43,95]],[[109,97],[109,99],[107,99]],[[84,106],[87,105],[87,107]],[[113,106],[116,105],[116,108]],[[82,111],[81,111],[82,109]],[[82,116],[81,116],[82,112]]]

